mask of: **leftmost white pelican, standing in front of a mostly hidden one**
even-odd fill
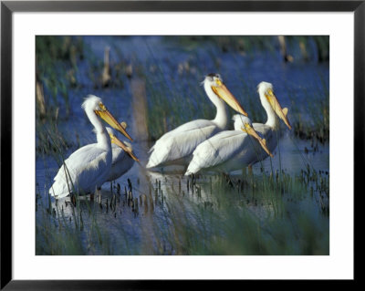
[[[74,151],[59,168],[55,182],[49,189],[49,193],[56,198],[66,197],[74,191],[94,192],[105,182],[110,172],[112,153],[110,136],[99,117],[131,140],[130,135],[115,120],[99,97],[89,95],[82,108],[95,128],[98,142]]]

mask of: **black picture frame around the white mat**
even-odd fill
[[[14,12],[109,12],[109,11],[246,11],[246,12],[353,12],[354,13],[354,189],[361,194],[364,166],[363,114],[365,96],[365,1],[1,1],[1,289],[5,290],[120,290],[206,287],[206,281],[178,284],[162,280],[59,280],[19,281],[12,278],[12,15]],[[350,193],[349,193],[350,194]],[[355,199],[354,195],[354,199]],[[360,205],[360,203],[354,203]],[[356,212],[355,213],[359,213]],[[354,216],[355,219],[355,216]],[[355,224],[354,224],[355,225]],[[355,232],[354,232],[355,234]],[[355,236],[356,238],[356,236]],[[356,255],[354,256],[354,260]],[[356,271],[354,274],[356,281]],[[237,283],[237,281],[234,281]],[[238,281],[240,282],[240,281]],[[274,287],[278,281],[265,281]],[[226,282],[214,282],[226,287]]]

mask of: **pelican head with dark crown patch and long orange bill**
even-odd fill
[[[209,74],[205,76],[202,83],[205,91],[208,93],[209,98],[212,99],[213,102],[213,96],[217,97],[218,99],[223,99],[224,102],[235,109],[235,111],[247,116],[247,113],[238,103],[237,99],[235,99],[235,96],[228,90],[228,88],[225,87],[224,82],[219,74]],[[209,92],[213,92],[214,95],[210,94]]]

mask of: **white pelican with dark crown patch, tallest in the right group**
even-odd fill
[[[237,112],[247,116],[232,93],[225,87],[218,74],[209,74],[203,80],[208,98],[216,107],[214,120],[193,120],[171,130],[151,147],[151,156],[146,168],[168,164],[187,165],[196,146],[227,127],[227,112],[224,101]]]

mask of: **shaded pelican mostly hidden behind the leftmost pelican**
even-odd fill
[[[139,161],[133,153],[133,148],[129,142],[118,140],[114,130],[107,127],[111,140],[112,160],[109,175],[105,182],[111,182],[129,171],[134,161]]]

